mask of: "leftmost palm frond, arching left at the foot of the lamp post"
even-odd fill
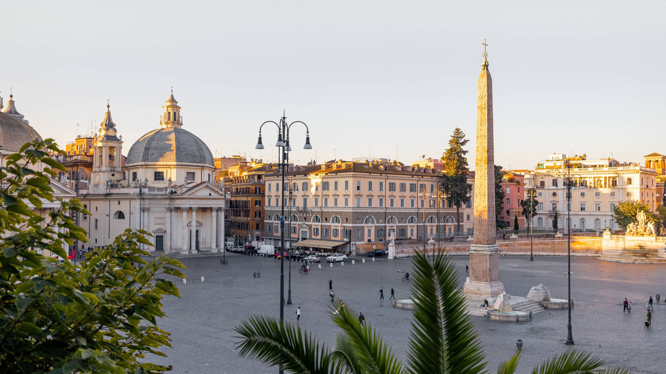
[[[290,373],[328,373],[330,352],[300,327],[258,316],[250,317],[234,331],[240,334],[238,348],[242,357],[256,358],[272,366],[280,365]]]

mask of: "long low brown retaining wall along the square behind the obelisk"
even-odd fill
[[[444,253],[452,256],[467,255],[472,242],[442,243]],[[529,254],[529,239],[519,238],[511,240],[498,240],[502,254],[525,255]],[[414,252],[423,252],[423,244],[407,244],[396,246],[396,257],[414,256]],[[437,252],[437,243],[426,244],[426,252]],[[539,256],[565,256],[567,254],[567,237],[534,238],[533,253]],[[571,256],[598,257],[601,256],[601,238],[591,236],[571,236]]]

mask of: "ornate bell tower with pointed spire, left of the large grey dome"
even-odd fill
[[[99,125],[99,134],[93,139],[93,185],[117,184],[124,179],[123,139],[117,134],[107,102],[107,112]]]

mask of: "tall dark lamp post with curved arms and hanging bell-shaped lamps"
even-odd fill
[[[310,128],[308,128],[308,125],[300,120],[287,123],[287,118],[283,113],[282,118],[280,118],[280,123],[267,120],[266,122],[262,123],[261,126],[259,126],[259,138],[256,142],[256,146],[254,147],[256,149],[264,149],[261,129],[264,127],[264,124],[267,123],[272,123],[278,128],[278,141],[275,143],[275,146],[281,148],[279,150],[280,152],[278,153],[278,164],[280,165],[280,170],[282,173],[282,183],[280,184],[282,186],[280,191],[282,198],[280,213],[280,251],[283,252],[283,256],[280,256],[280,323],[282,323],[282,321],[284,321],[284,177],[286,175],[286,168],[289,164],[289,151],[291,150],[291,147],[289,146],[289,132],[291,126],[297,123],[303,124],[306,129],[305,145],[303,146],[303,149],[312,149],[312,145],[310,144]],[[280,368],[280,373],[282,372],[283,371]]]

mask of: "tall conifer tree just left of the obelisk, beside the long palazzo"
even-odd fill
[[[463,147],[470,140],[465,138],[464,132],[456,127],[449,140],[449,148],[444,152],[444,180],[443,188],[449,201],[456,205],[456,231],[460,233],[460,207],[470,201],[472,184],[467,182],[467,150]]]

